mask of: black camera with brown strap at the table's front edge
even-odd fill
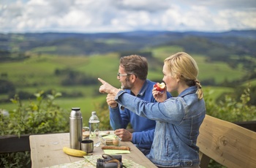
[[[97,159],[97,168],[123,168],[121,155],[102,155],[103,159]]]

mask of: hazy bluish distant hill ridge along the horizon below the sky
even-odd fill
[[[197,42],[197,45],[194,44],[194,41]],[[200,42],[202,43],[200,44]],[[225,47],[229,50],[235,50],[237,53],[255,56],[256,30],[225,32],[130,31],[95,34],[55,32],[0,34],[0,51],[10,53],[49,53],[61,56],[139,51],[145,47],[161,45],[180,45],[187,52],[205,52],[207,49],[202,50],[200,46],[204,46],[206,43],[210,44],[211,47],[217,47],[217,49]],[[193,50],[189,48],[193,48]],[[209,50],[211,49],[209,48]]]

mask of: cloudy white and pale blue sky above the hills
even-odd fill
[[[256,0],[0,0],[0,33],[256,29]]]

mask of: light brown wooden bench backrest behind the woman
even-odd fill
[[[256,132],[206,115],[197,139],[200,167],[211,159],[225,167],[256,167]]]

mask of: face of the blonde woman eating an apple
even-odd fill
[[[162,73],[164,74],[164,77],[162,78],[162,81],[165,82],[166,88],[168,92],[173,92],[178,90],[178,78],[173,77],[170,74],[169,69],[167,68],[167,65],[164,64],[162,67]]]

